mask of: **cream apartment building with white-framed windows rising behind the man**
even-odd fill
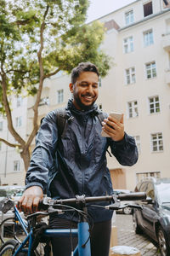
[[[142,177],[170,177],[170,2],[137,0],[99,20],[106,27],[101,48],[114,65],[100,79],[97,104],[105,112],[124,113],[125,131],[139,148],[136,165],[121,166],[108,155],[108,166],[115,188],[134,189]],[[69,83],[65,73],[45,81],[39,120],[65,106]],[[27,102],[27,135],[34,101]]]

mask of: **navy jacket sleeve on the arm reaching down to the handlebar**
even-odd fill
[[[26,172],[26,189],[40,186],[46,192],[48,170],[54,166],[54,154],[58,140],[56,113],[51,111],[42,119],[42,125],[37,132],[36,147],[31,155],[31,163]]]

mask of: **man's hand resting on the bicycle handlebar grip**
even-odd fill
[[[42,188],[39,186],[32,186],[23,193],[18,201],[18,209],[27,214],[37,212],[39,201],[43,198]]]

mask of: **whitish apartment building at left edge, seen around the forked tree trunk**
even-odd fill
[[[11,96],[10,103],[14,129],[21,137],[26,139],[26,95]],[[0,116],[0,137],[9,143],[17,144],[8,131],[7,120],[3,115]],[[0,142],[0,163],[0,185],[24,184],[25,168],[23,160],[20,158],[19,148],[11,148],[7,144]]]

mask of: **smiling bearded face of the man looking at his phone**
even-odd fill
[[[70,84],[73,93],[73,103],[79,110],[89,109],[94,105],[99,95],[99,78],[94,72],[82,72],[75,84]]]

